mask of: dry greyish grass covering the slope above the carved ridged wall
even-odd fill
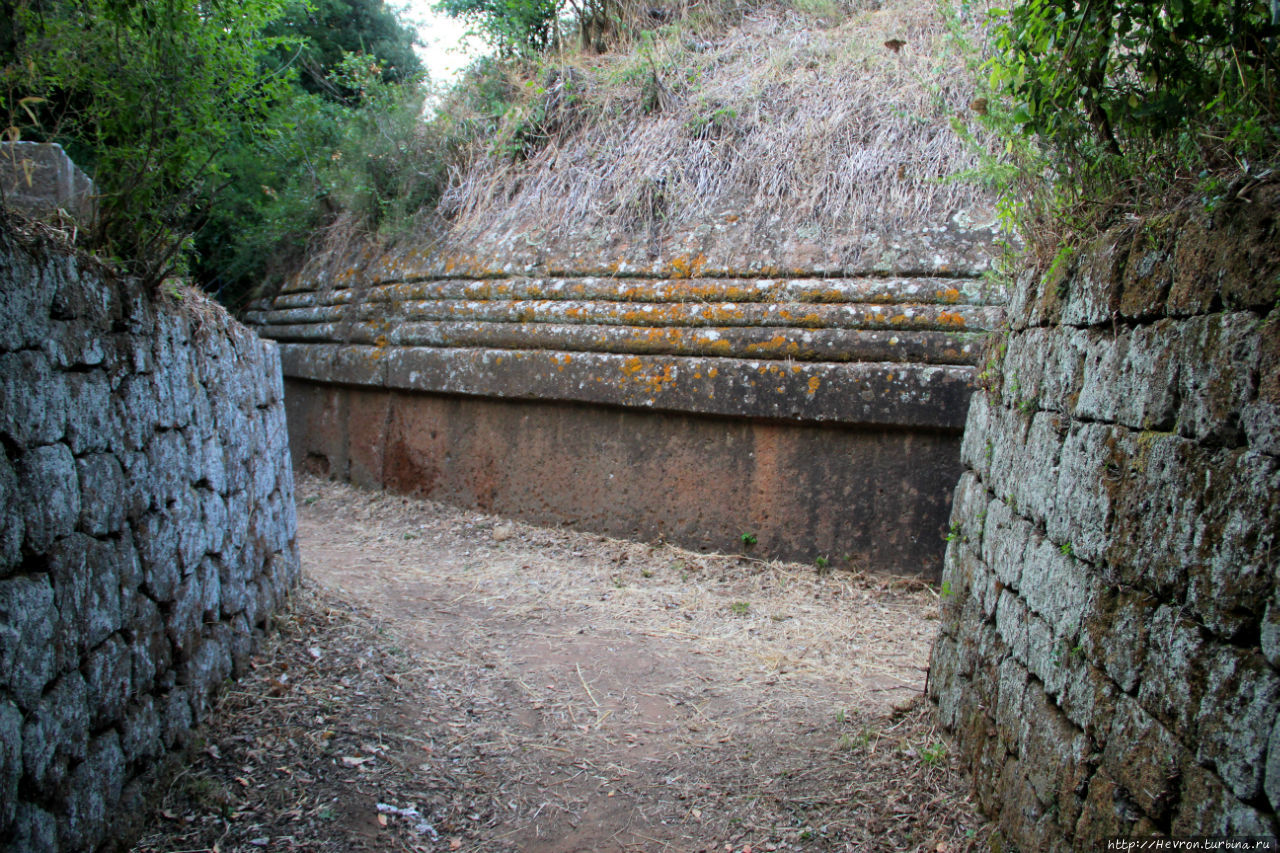
[[[844,237],[989,216],[950,127],[970,74],[933,0],[804,0],[712,31],[696,19],[632,49],[562,56],[454,173],[448,242],[687,231]],[[901,44],[897,44],[901,41]],[[530,137],[538,146],[526,146]],[[529,160],[513,151],[524,150]],[[549,224],[552,223],[552,224]]]

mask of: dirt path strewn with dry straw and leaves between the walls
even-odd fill
[[[308,587],[140,853],[984,836],[920,699],[937,599],[918,584],[314,479],[298,500]]]

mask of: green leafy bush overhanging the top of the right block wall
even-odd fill
[[[1025,0],[992,15],[974,109],[1004,134],[987,175],[1018,193],[1024,228],[1096,227],[1280,150],[1280,3]]]

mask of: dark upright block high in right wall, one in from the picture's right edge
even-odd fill
[[[1178,432],[1212,444],[1244,439],[1242,414],[1253,397],[1260,323],[1254,314],[1184,320],[1178,342]]]

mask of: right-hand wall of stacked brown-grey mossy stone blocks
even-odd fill
[[[1023,277],[929,693],[1024,849],[1276,835],[1280,188]]]

